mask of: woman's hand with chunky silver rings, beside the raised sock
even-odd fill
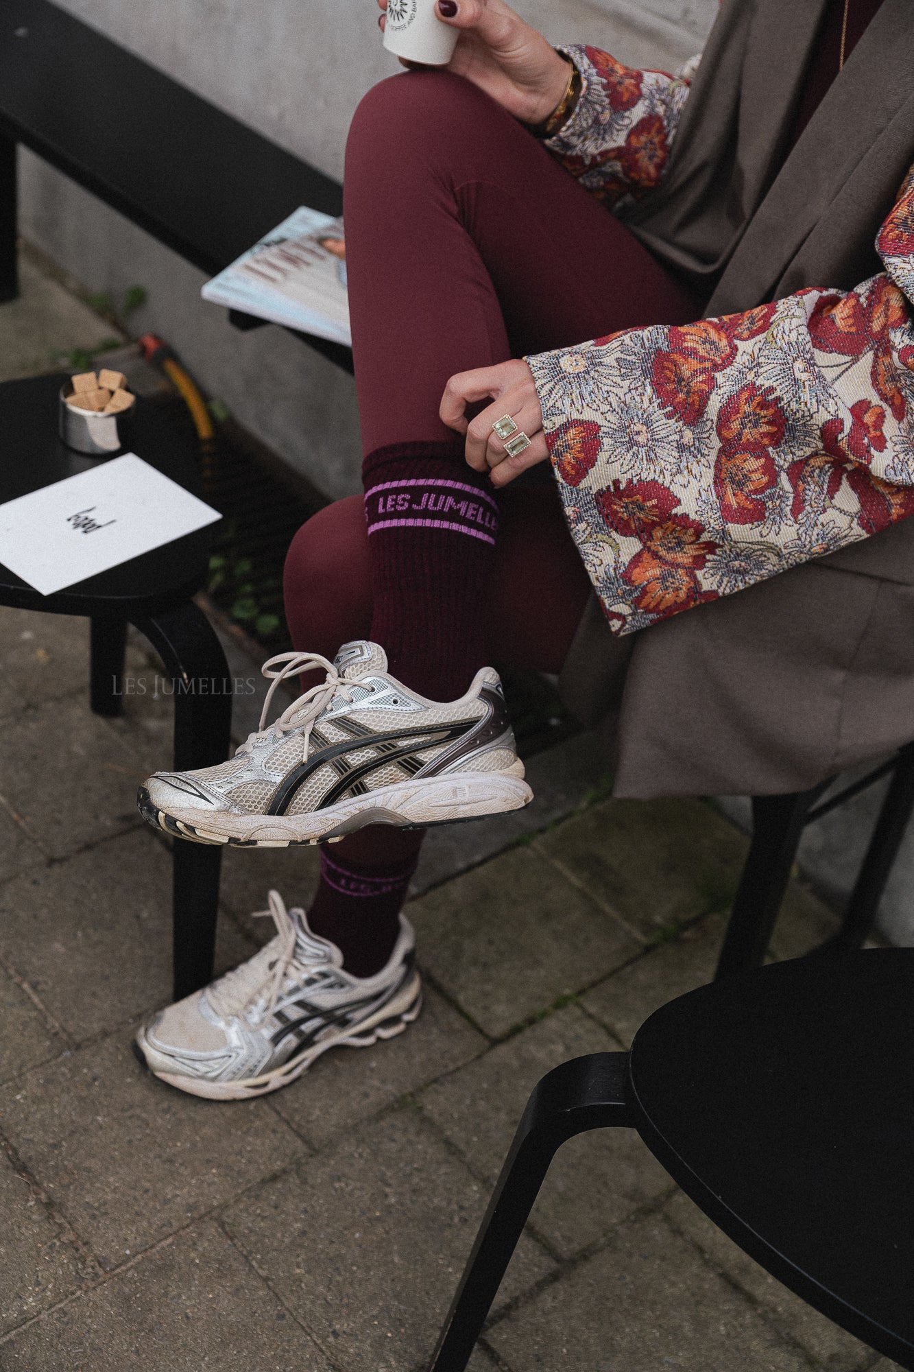
[[[493,403],[467,421],[467,406],[486,399]],[[493,486],[506,486],[528,466],[549,457],[539,397],[526,362],[500,362],[497,366],[480,366],[475,372],[458,372],[445,387],[439,413],[449,428],[467,435],[468,464],[476,472],[490,471]],[[517,457],[508,456],[505,445],[493,429],[502,414],[511,414],[517,429],[530,439],[530,447]]]

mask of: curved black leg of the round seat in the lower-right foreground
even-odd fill
[[[630,1128],[627,1052],[563,1062],[535,1087],[476,1235],[431,1372],[464,1372],[511,1255],[560,1146],[576,1133]]]

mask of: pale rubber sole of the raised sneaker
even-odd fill
[[[461,819],[523,809],[531,800],[532,792],[527,782],[504,772],[454,772],[421,785],[413,782],[382,786],[365,796],[303,815],[232,815],[215,811],[200,818],[199,809],[159,809],[145,786],[140,786],[137,792],[137,808],[155,829],[195,844],[229,848],[290,848],[296,844],[333,842],[365,825],[431,829]]]

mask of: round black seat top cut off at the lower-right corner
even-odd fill
[[[638,1032],[638,1132],[785,1286],[914,1368],[914,949],[703,986]]]

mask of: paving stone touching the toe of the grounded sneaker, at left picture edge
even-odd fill
[[[0,1098],[0,1131],[108,1269],[303,1151],[266,1100],[156,1081],[126,1033],[29,1073]]]

